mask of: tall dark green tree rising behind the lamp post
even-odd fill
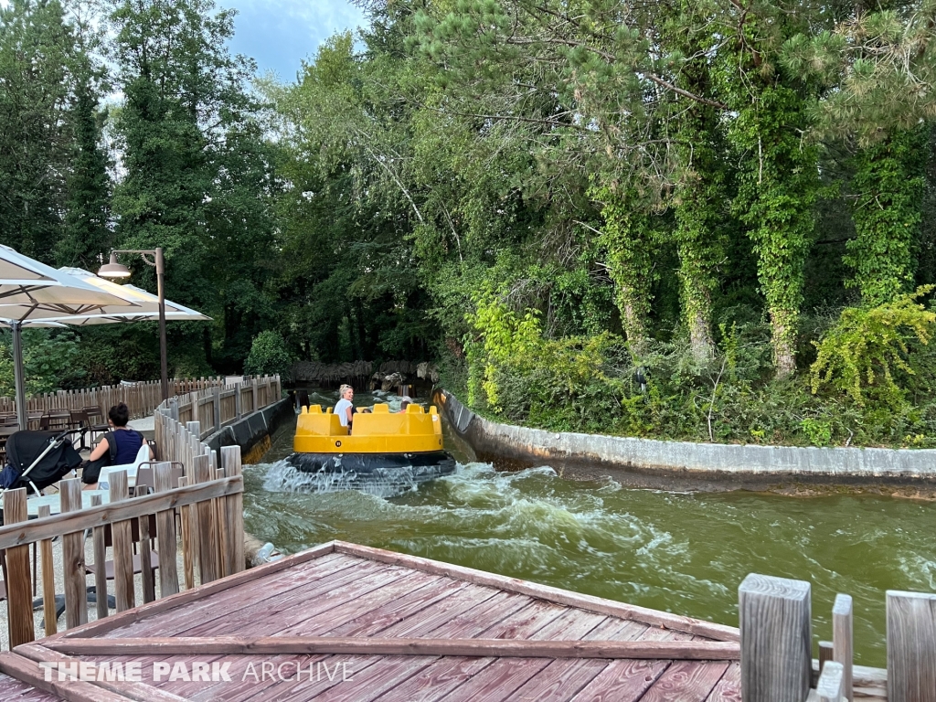
[[[214,337],[207,326],[170,332],[190,371],[214,355],[237,370],[269,323],[263,289],[273,272],[275,182],[260,106],[247,88],[254,66],[227,51],[233,17],[211,0],[110,7],[110,53],[124,93],[115,124],[124,171],[113,197],[116,238],[121,248],[162,246],[168,295],[218,320]],[[140,272],[152,285],[152,271]]]

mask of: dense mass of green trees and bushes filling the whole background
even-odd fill
[[[366,9],[279,84],[212,0],[14,0],[3,241],[163,246],[214,319],[170,326],[174,373],[432,358],[550,429],[936,443],[929,5]],[[154,341],[63,343],[95,382]]]

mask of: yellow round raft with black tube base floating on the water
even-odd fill
[[[374,404],[370,413],[354,416],[350,434],[330,407],[324,412],[317,404],[303,407],[293,451],[286,461],[297,470],[340,474],[342,487],[352,490],[372,490],[375,482],[414,487],[455,472],[434,406],[426,411],[410,404],[403,412],[391,413],[387,404]]]

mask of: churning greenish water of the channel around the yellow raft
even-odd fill
[[[400,497],[297,492],[281,487],[291,443],[283,431],[244,471],[247,531],[289,553],[337,538],[733,626],[748,573],[808,579],[813,638],[831,639],[835,594],[851,594],[856,663],[880,667],[885,590],[936,591],[930,503],[631,490],[472,462]]]

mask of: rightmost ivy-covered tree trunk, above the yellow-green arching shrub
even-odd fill
[[[855,277],[846,285],[858,288],[868,307],[913,285],[928,157],[928,126],[894,132],[856,156],[857,237],[846,244],[845,256]]]

